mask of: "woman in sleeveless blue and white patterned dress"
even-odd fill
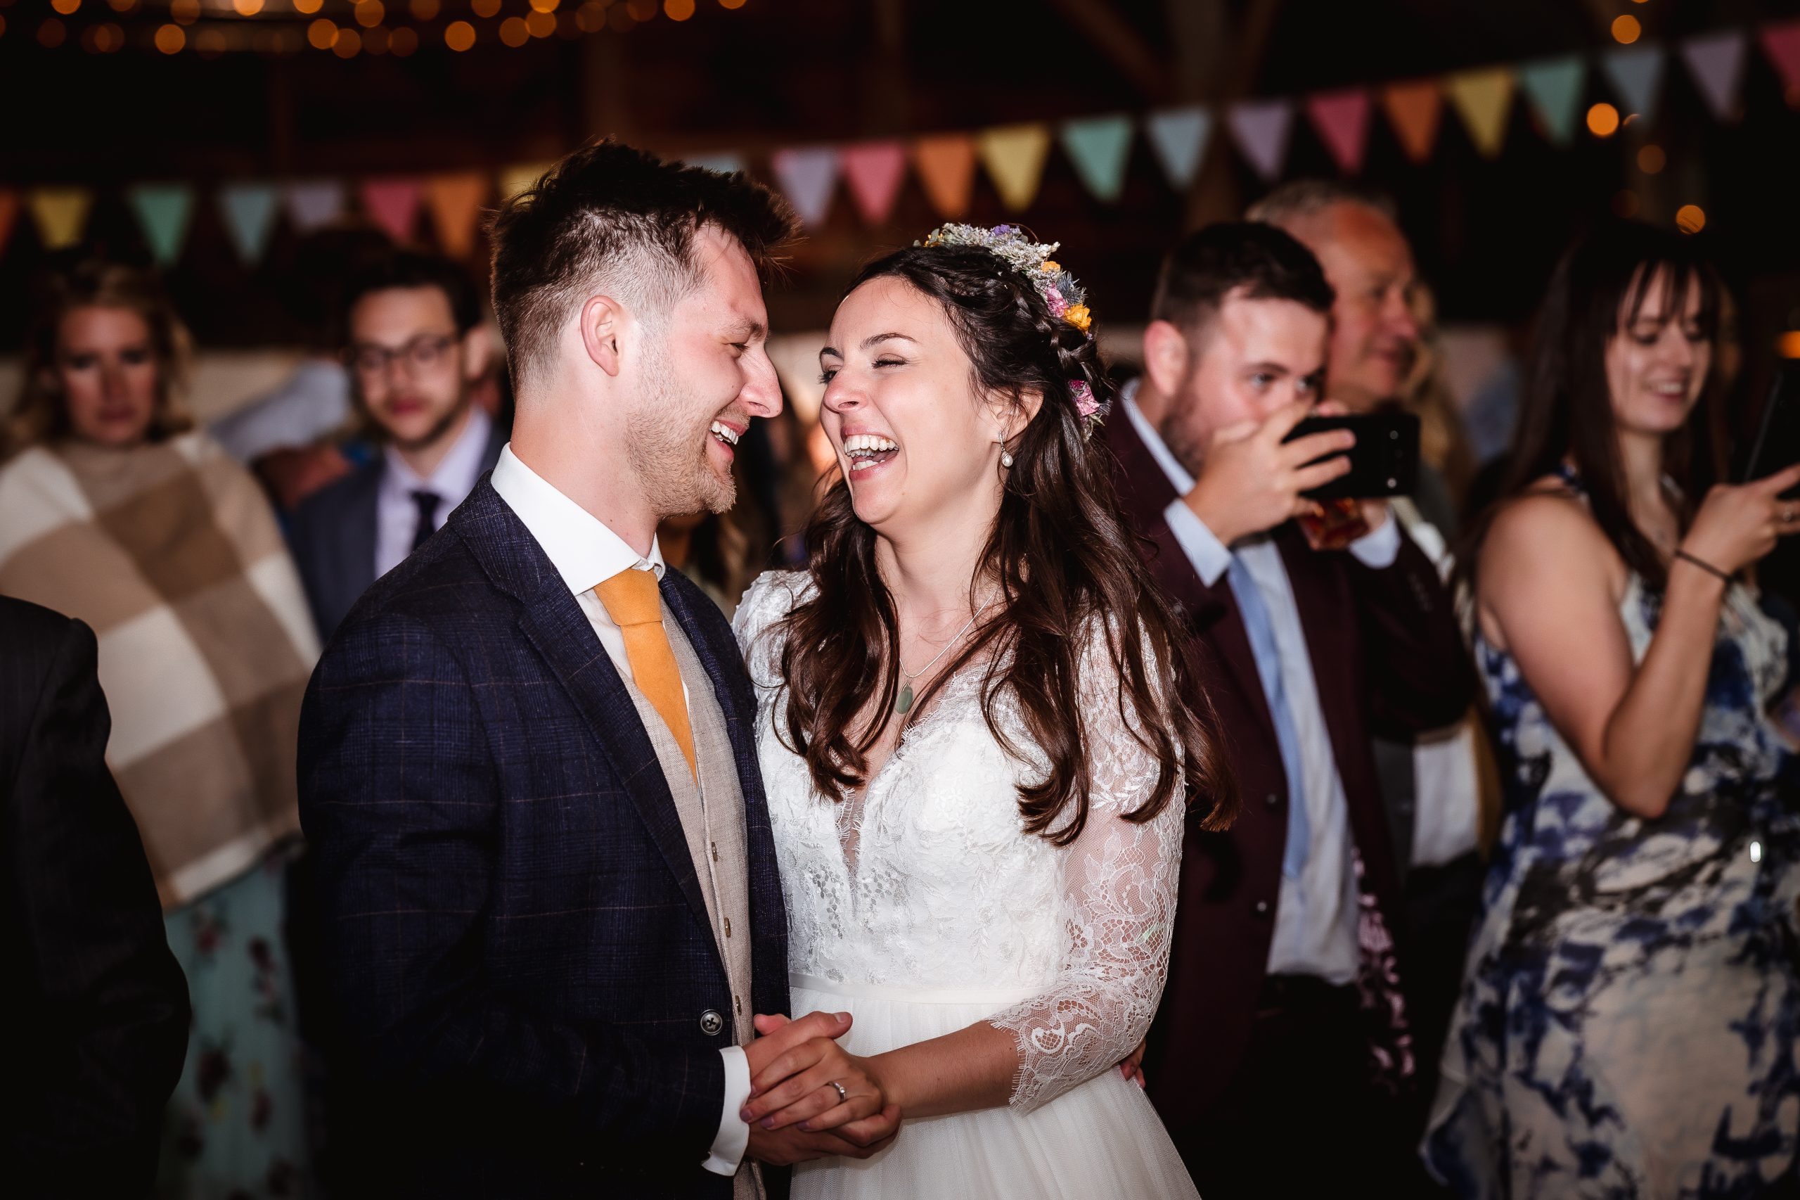
[[[1688,485],[1719,294],[1674,231],[1562,259],[1462,555],[1507,786],[1426,1141],[1463,1196],[1793,1186],[1800,764],[1768,710],[1796,631],[1750,568],[1800,532],[1800,468]]]

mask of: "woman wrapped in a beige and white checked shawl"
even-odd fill
[[[176,393],[153,279],[81,263],[34,310],[0,467],[0,593],[86,622],[106,762],[193,1002],[158,1189],[292,1195],[304,1171],[281,941],[295,741],[319,645],[261,486]]]

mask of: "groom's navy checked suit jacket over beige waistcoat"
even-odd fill
[[[787,1013],[756,701],[718,609],[677,571],[662,598],[743,784],[749,1002]],[[326,649],[301,818],[344,1031],[333,1067],[356,1094],[331,1130],[335,1186],[731,1195],[700,1160],[733,996],[675,804],[592,625],[486,477]],[[785,1193],[781,1173],[767,1182]]]

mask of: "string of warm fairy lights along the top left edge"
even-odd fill
[[[0,41],[31,36],[45,50],[88,54],[317,50],[407,58],[428,47],[461,54],[499,41],[517,49],[542,38],[626,32],[657,18],[686,22],[702,2],[526,0],[526,11],[502,14],[518,0],[47,0],[49,13],[31,25],[27,7],[43,0],[0,0]],[[747,4],[709,2],[722,9]]]

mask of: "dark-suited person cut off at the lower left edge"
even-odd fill
[[[94,631],[0,596],[5,1193],[148,1196],[187,986],[106,769]]]

